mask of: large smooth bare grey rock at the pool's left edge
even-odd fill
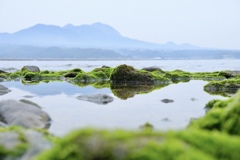
[[[3,100],[0,102],[0,120],[6,125],[49,128],[51,118],[31,101]]]

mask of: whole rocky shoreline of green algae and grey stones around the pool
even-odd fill
[[[146,123],[139,131],[81,129],[64,137],[48,133],[51,117],[34,102],[5,100],[0,102],[0,159],[6,160],[113,160],[113,159],[240,159],[240,72],[163,71],[160,68],[134,69],[120,65],[103,66],[91,72],[80,68],[67,71],[41,71],[24,66],[21,71],[0,71],[1,81],[21,80],[26,84],[41,81],[67,81],[74,85],[111,88],[114,95],[127,99],[164,86],[205,80],[204,90],[211,94],[231,96],[210,101],[206,115],[192,120],[182,131],[161,132]],[[124,86],[124,87],[123,87]],[[128,92],[125,88],[130,88]],[[11,92],[0,85],[0,95]],[[237,92],[237,93],[236,93]],[[106,104],[107,95],[79,96],[79,100]],[[171,99],[163,99],[172,103]]]

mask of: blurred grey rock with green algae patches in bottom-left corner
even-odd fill
[[[0,128],[0,159],[30,160],[51,147],[50,136],[36,130]]]

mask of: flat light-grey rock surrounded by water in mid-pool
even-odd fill
[[[77,99],[93,102],[96,104],[108,104],[113,101],[113,97],[106,94],[81,95],[81,96],[78,96]]]

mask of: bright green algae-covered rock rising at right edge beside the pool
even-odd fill
[[[206,116],[193,121],[190,128],[219,130],[232,135],[240,135],[240,91],[229,100],[214,103]]]

